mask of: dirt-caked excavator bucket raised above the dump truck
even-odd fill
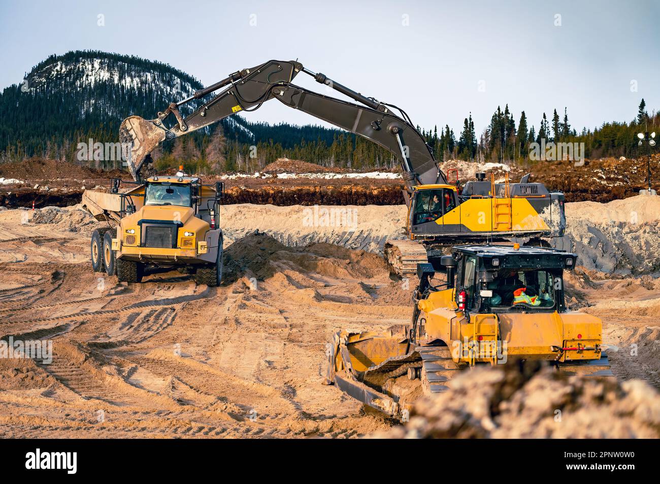
[[[141,179],[141,171],[147,156],[165,140],[165,130],[156,126],[154,121],[147,121],[139,116],[129,116],[119,127],[121,153],[135,181]]]

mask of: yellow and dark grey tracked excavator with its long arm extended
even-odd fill
[[[299,73],[312,76],[354,102],[293,84]],[[203,99],[220,89],[209,100]],[[529,175],[519,183],[510,183],[508,176],[496,183],[494,177],[487,181],[484,173],[477,173],[477,179],[467,181],[461,189],[458,172],[449,183],[432,149],[403,109],[363,96],[298,61],[271,60],[231,73],[187,99],[170,103],[155,119],[127,117],[119,128],[119,139],[133,178],[140,181],[156,174],[150,153],[161,142],[193,133],[235,113],[255,111],[273,98],[372,140],[399,160],[408,207],[407,239],[387,240],[383,247],[391,272],[399,276],[414,275],[419,263],[440,268],[442,255],[457,243],[550,245],[548,239],[564,235],[562,193],[548,192],[543,183],[530,183]],[[203,104],[184,118],[180,107],[192,102]],[[166,119],[172,116],[174,123],[168,127]]]

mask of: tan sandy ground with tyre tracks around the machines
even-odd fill
[[[117,284],[90,268],[89,235],[100,222],[75,208],[0,211],[0,338],[53,342],[49,364],[0,359],[0,437],[342,438],[387,431],[391,422],[321,379],[335,328],[409,322],[414,284],[392,280],[378,255],[360,250],[378,246],[388,231],[371,237],[353,230],[356,243],[345,245],[354,249],[313,237],[306,247],[286,247],[283,231],[277,241],[249,235],[246,226],[293,229],[302,208],[278,208],[296,212],[277,222],[272,212],[257,220],[253,207],[223,212],[226,278],[218,288],[178,272]],[[378,210],[393,218],[369,223],[396,230],[401,208]],[[363,215],[367,222],[370,214]],[[329,241],[339,243],[335,237]],[[568,283],[576,307],[603,318],[615,375],[659,387],[657,278],[586,270]]]

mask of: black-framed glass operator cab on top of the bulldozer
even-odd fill
[[[545,247],[464,245],[454,248],[457,304],[472,313],[564,312],[563,272],[576,255]]]

